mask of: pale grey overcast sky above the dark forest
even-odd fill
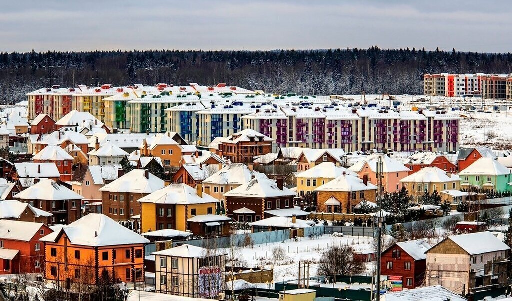
[[[0,51],[413,48],[510,52],[509,1],[24,0]]]

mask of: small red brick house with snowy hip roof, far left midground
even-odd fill
[[[58,145],[48,145],[34,156],[35,163],[53,162],[60,173],[60,180],[67,182],[73,179],[73,158]]]

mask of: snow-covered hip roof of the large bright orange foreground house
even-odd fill
[[[90,213],[41,239],[55,242],[61,232],[66,233],[70,244],[89,247],[147,244],[150,241],[134,231],[123,227],[113,219],[97,213]]]

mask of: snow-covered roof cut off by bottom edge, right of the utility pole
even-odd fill
[[[400,292],[391,292],[383,294],[380,299],[382,301],[466,301],[454,292],[451,292],[440,285],[420,287],[412,290],[404,290]]]

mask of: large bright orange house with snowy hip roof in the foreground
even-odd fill
[[[150,241],[103,214],[90,213],[41,242],[45,278],[57,285],[96,285],[104,273],[116,282],[144,282],[144,245]]]

